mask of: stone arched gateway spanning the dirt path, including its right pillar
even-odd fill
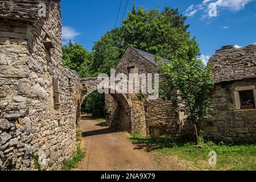
[[[82,102],[86,99],[86,97],[88,97],[91,93],[97,90],[98,84],[100,84],[100,82],[101,80],[98,80],[98,78],[81,79],[81,98],[78,104],[77,111],[80,112],[80,106]],[[107,107],[106,122],[109,124],[110,127],[114,127],[118,130],[129,132],[139,131],[143,134],[146,134],[146,118],[144,115],[144,110],[141,109],[143,108],[143,106],[135,103],[133,101],[133,97],[134,96],[132,96],[131,94],[123,94],[117,92],[109,92],[105,94]]]

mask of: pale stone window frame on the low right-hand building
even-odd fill
[[[234,99],[235,99],[235,104],[236,104],[236,110],[243,110],[241,109],[241,99],[240,99],[240,93],[243,91],[250,91],[253,90],[253,97],[254,97],[254,105],[256,104],[256,86],[251,85],[251,86],[239,86],[236,87],[235,92],[234,92]],[[254,108],[254,110],[256,110]]]

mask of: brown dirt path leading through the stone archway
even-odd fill
[[[86,157],[80,164],[82,171],[115,170],[158,170],[158,164],[152,156],[143,150],[135,149],[126,133],[117,133],[102,126],[92,118],[81,121],[82,142],[86,145]]]

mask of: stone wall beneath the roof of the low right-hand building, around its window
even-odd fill
[[[235,88],[256,85],[256,78],[216,84],[210,94],[212,117],[202,122],[205,138],[226,142],[255,142],[256,110],[236,110]]]

